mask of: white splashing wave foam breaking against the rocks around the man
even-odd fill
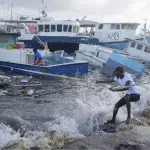
[[[124,92],[111,92],[108,90],[109,85],[96,85],[95,77],[88,77],[87,82],[77,82],[77,93],[68,99],[65,108],[59,111],[57,106],[55,120],[43,123],[45,131],[56,130],[63,133],[81,133],[90,135],[93,132],[93,126],[103,124],[112,117],[115,103],[125,95]],[[144,76],[139,82],[150,81],[149,76]],[[139,85],[141,93],[140,101],[132,103],[132,113],[143,111],[150,101],[150,85]],[[127,117],[126,107],[122,107],[117,115],[118,121],[123,121]],[[95,120],[96,122],[94,122]],[[23,139],[28,147],[34,146],[34,141],[38,136],[44,136],[46,132],[28,132],[24,138],[20,137],[18,132],[14,132],[10,127],[0,125],[0,148],[5,146],[9,141]]]

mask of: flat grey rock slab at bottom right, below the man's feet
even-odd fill
[[[63,149],[150,150],[150,127],[134,126],[117,133],[100,132],[96,136],[65,144]]]

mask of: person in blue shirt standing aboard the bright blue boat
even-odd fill
[[[43,59],[42,54],[39,51],[37,51],[36,48],[33,49],[33,52],[35,56],[34,65],[39,65],[39,66],[44,65],[44,59]]]

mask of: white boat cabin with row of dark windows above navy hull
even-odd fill
[[[40,36],[76,36],[79,33],[78,21],[44,20],[37,23],[37,32]]]

